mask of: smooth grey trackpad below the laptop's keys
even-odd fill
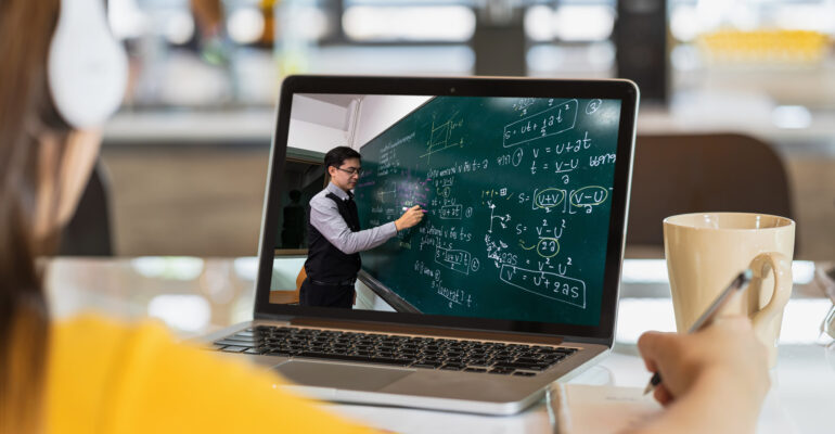
[[[400,368],[361,367],[327,361],[288,360],[272,369],[295,383],[352,391],[378,391],[414,372]]]

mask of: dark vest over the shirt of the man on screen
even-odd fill
[[[357,214],[357,204],[354,201],[343,201],[336,194],[327,193],[325,197],[334,201],[339,209],[339,215],[352,232],[360,230],[360,218]],[[310,205],[308,205],[308,216],[310,215]],[[360,270],[360,254],[344,254],[327,241],[313,225],[310,219],[307,220],[307,261],[305,261],[305,271],[309,279],[320,282],[337,283],[354,279]]]

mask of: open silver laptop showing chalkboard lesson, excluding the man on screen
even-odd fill
[[[202,341],[321,399],[522,411],[612,348],[638,101],[618,79],[285,78],[254,320]],[[288,143],[361,153],[362,229],[426,210],[361,254],[350,309],[271,297]]]

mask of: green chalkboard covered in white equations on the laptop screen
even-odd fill
[[[362,269],[424,314],[598,326],[619,100],[436,97],[362,145]]]

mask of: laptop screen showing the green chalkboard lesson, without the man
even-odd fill
[[[637,104],[631,84],[400,79],[385,91],[374,81],[391,79],[359,86],[361,78],[297,78],[343,89],[299,86],[287,94],[285,81],[271,179],[280,178],[283,155],[275,154],[288,140],[347,145],[361,154],[351,192],[360,229],[389,224],[415,205],[424,217],[360,253],[352,308],[270,304],[259,279],[256,315],[611,334]],[[311,108],[326,107],[322,102],[345,110]],[[311,116],[321,119],[299,122]],[[335,129],[344,141],[334,140]],[[275,243],[269,199],[282,188],[268,188],[262,243]],[[266,279],[278,276],[264,272],[275,264],[264,255],[277,247],[261,246]]]

